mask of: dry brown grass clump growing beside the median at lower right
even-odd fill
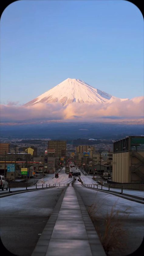
[[[101,240],[101,244],[107,255],[115,255],[115,250],[120,252],[125,250],[126,247],[125,238],[127,232],[122,225],[119,211],[116,210],[115,207],[116,203],[112,206],[111,212],[109,214],[107,213],[105,218],[102,218],[104,220],[104,223],[102,224],[102,229],[104,229],[103,231],[98,227],[98,220],[101,218],[100,214],[98,214],[98,209],[100,208],[99,204],[93,203],[88,210],[89,216],[94,223],[95,229]],[[126,211],[127,210],[128,208]],[[126,211],[125,214],[127,215]]]

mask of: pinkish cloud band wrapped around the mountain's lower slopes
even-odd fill
[[[127,101],[115,99],[105,103],[73,102],[63,107],[60,103],[37,103],[33,106],[17,106],[15,102],[1,105],[1,122],[40,122],[41,120],[61,121],[105,121],[120,119],[142,119],[144,98]]]

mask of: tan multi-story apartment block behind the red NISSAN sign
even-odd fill
[[[65,158],[66,157],[66,144],[67,144],[66,140],[49,140],[48,147],[47,147],[48,157],[63,157],[63,158]],[[49,153],[49,149],[52,149],[51,153]]]

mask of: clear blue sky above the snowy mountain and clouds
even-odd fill
[[[143,16],[131,2],[16,1],[0,29],[1,104],[24,104],[67,78],[143,95]]]

